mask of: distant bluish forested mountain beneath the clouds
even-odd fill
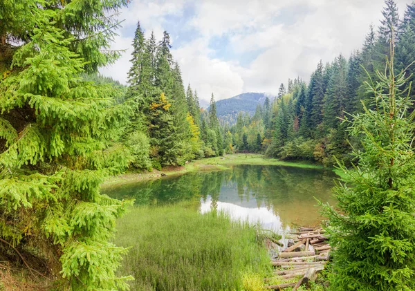
[[[265,99],[265,93],[248,92],[228,99],[219,100],[216,102],[218,118],[222,124],[235,124],[240,111],[252,116],[258,104],[264,105]]]

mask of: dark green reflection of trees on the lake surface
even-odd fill
[[[331,171],[295,167],[244,165],[230,171],[187,173],[183,176],[124,185],[105,190],[116,198],[135,198],[139,205],[176,203],[212,197],[212,208],[217,209],[222,187],[236,189],[241,202],[255,198],[257,206],[268,209],[284,207],[312,207],[314,196],[329,197],[335,175]],[[230,199],[232,200],[232,191]]]

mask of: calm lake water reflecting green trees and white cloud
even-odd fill
[[[234,219],[260,223],[282,232],[322,219],[317,200],[335,203],[333,171],[298,167],[239,165],[228,171],[186,173],[109,187],[113,198],[135,198],[136,205],[165,205],[183,200],[199,203],[202,213],[223,211]]]

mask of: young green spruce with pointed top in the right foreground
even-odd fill
[[[393,28],[392,28],[393,31]],[[393,39],[393,34],[392,34]],[[371,106],[353,115],[351,135],[364,151],[359,166],[343,171],[335,187],[337,208],[326,205],[333,245],[332,290],[415,289],[414,113],[400,91],[403,73],[394,73],[394,47],[386,73],[368,84]]]

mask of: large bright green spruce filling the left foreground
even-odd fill
[[[118,26],[108,15],[125,3],[16,3],[0,4],[15,18],[0,24],[0,50],[15,45],[0,60],[1,252],[59,259],[59,290],[127,290],[131,277],[116,275],[126,250],[109,239],[128,203],[100,183],[127,167],[117,140],[128,109],[81,77],[118,57],[104,50]]]

